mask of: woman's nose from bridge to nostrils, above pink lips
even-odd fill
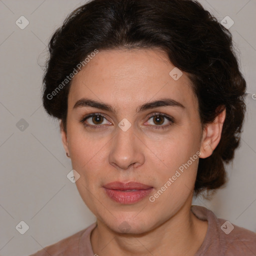
[[[138,167],[145,161],[144,147],[132,126],[126,131],[117,127],[117,133],[111,140],[108,161],[119,170]]]

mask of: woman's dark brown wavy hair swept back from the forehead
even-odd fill
[[[70,81],[63,85],[63,80],[78,71],[77,64],[90,52],[123,47],[164,50],[174,66],[189,74],[202,125],[226,108],[219,144],[211,156],[199,159],[194,193],[226,182],[224,163],[239,145],[246,83],[230,32],[197,1],[91,0],[69,14],[48,47],[43,106],[62,120],[64,130]]]

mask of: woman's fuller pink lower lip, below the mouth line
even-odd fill
[[[153,188],[150,187],[147,189],[140,189],[135,191],[121,191],[105,187],[104,189],[106,191],[106,194],[114,201],[122,204],[131,204],[142,200],[152,191]]]

